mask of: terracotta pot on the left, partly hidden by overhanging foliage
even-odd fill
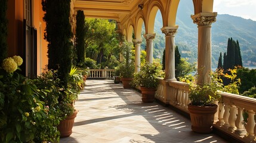
[[[71,116],[67,116],[65,120],[61,120],[57,129],[60,131],[60,137],[69,137],[72,134],[72,128],[78,111],[75,110]]]

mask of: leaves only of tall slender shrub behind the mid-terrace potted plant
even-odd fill
[[[124,61],[119,64],[121,77],[134,76],[134,60],[132,60],[132,43],[124,41],[121,46],[121,54],[124,56]]]

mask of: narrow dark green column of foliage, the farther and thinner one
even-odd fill
[[[84,11],[78,10],[76,14],[76,63],[84,65],[85,60],[85,15]]]

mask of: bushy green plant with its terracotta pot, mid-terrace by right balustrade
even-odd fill
[[[135,86],[140,86],[143,102],[153,102],[155,100],[155,91],[158,86],[160,71],[161,66],[156,66],[155,63],[145,63],[141,66],[141,70],[134,74],[132,83]]]

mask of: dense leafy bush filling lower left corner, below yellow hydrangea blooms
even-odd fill
[[[35,80],[26,79],[20,71],[7,73],[0,69],[0,141],[1,142],[58,142],[55,117],[48,98],[48,89],[38,88]],[[48,85],[44,85],[48,86]],[[50,95],[49,95],[50,96]],[[45,99],[46,98],[46,99]],[[52,107],[52,106],[51,106]]]

